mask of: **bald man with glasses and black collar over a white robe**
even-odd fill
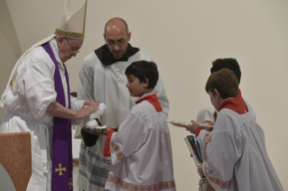
[[[93,117],[98,118],[102,124],[116,127],[129,114],[130,108],[135,105],[137,99],[137,97],[130,97],[125,87],[127,82],[125,68],[134,61],[152,61],[152,58],[128,43],[131,32],[128,30],[127,23],[121,18],[109,20],[103,35],[106,44],[90,53],[80,68],[78,98],[105,103],[106,113]],[[163,113],[168,116],[169,102],[161,77],[153,92],[159,97]],[[93,139],[96,138],[84,137],[80,150],[78,186],[85,191],[105,190],[111,161],[110,158],[103,156],[106,136],[99,136],[95,145]]]

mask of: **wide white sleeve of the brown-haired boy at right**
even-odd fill
[[[199,135],[203,173],[215,190],[228,190],[234,165],[241,156],[241,139],[228,131],[233,126],[231,120],[218,116],[214,130],[202,130]]]

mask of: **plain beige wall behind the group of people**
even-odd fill
[[[54,31],[65,0],[6,0],[6,4],[23,51]],[[79,6],[81,1],[72,4]],[[158,64],[171,103],[169,120],[189,122],[201,108],[211,106],[204,91],[211,61],[236,58],[243,73],[243,96],[255,109],[270,159],[288,189],[287,9],[286,1],[88,1],[86,41],[81,53],[67,63],[71,90],[77,90],[82,60],[104,43],[103,27],[114,16],[127,21],[131,43]],[[10,70],[5,68],[4,73]],[[7,78],[1,76],[1,81],[6,83]],[[183,141],[189,133],[172,126],[170,130],[178,190],[195,190],[199,177]]]

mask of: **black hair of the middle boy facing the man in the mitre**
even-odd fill
[[[125,75],[133,75],[139,78],[140,83],[145,82],[147,77],[149,80],[148,89],[153,89],[158,81],[157,65],[153,61],[135,61],[125,70]]]

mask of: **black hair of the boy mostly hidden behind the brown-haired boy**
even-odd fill
[[[240,84],[240,79],[241,79],[241,70],[240,70],[240,66],[237,62],[236,59],[216,59],[215,61],[212,62],[212,68],[210,69],[211,74],[213,72],[216,72],[220,69],[223,68],[228,68],[231,71],[234,72],[234,74],[237,76],[237,79],[239,81]]]

